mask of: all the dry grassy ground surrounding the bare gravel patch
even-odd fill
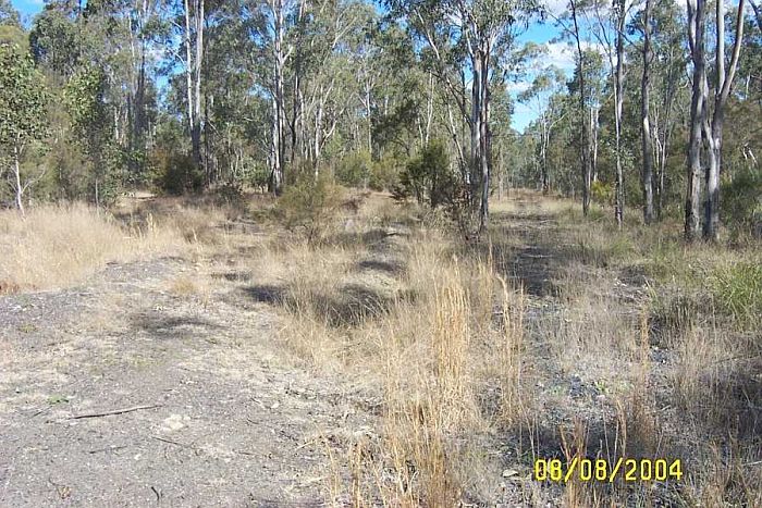
[[[516,193],[488,241],[464,247],[437,214],[333,198],[291,230],[270,202],[2,215],[3,258],[27,268],[3,264],[0,281],[61,286],[170,251],[246,274],[236,284],[278,312],[293,361],[347,380],[373,414],[368,432],[324,436],[336,505],[762,503],[759,245],[686,248],[677,224],[632,214],[617,232],[603,210],[582,220]],[[243,246],[234,228],[253,216]],[[212,285],[183,273],[167,289],[206,305]],[[536,458],[623,456],[680,458],[686,476],[531,480]]]

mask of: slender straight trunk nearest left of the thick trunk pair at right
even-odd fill
[[[646,0],[643,10],[643,73],[640,79],[640,134],[642,141],[643,222],[653,222],[653,149],[651,146],[650,91],[651,91],[651,2]]]

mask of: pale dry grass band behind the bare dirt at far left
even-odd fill
[[[193,203],[193,205],[192,205]],[[189,198],[127,200],[113,210],[50,205],[0,212],[0,293],[77,284],[109,262],[230,251],[241,207]]]

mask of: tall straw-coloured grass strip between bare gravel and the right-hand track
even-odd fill
[[[499,479],[500,466],[480,443],[520,407],[524,296],[491,257],[459,259],[446,233],[415,223],[371,196],[333,240],[280,238],[253,264],[297,361],[381,400],[378,439],[345,443],[349,459],[333,468],[349,479],[328,475],[337,504],[455,506],[475,488],[494,494],[484,471]],[[496,398],[481,397],[488,385]]]

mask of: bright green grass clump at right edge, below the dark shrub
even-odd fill
[[[738,263],[720,267],[709,277],[715,302],[741,329],[759,324],[762,315],[762,264]]]

